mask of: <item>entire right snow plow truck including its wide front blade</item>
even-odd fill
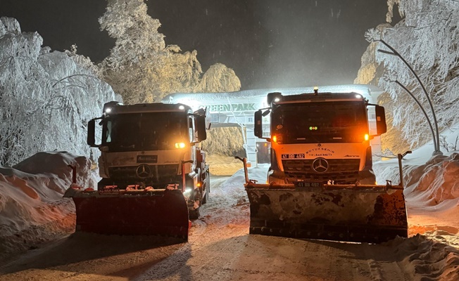
[[[377,185],[372,172],[370,140],[386,132],[384,107],[358,93],[318,90],[268,93],[267,101],[255,113],[254,134],[271,145],[268,181],[246,174],[244,185],[250,233],[349,242],[407,237],[403,181]],[[375,115],[372,135],[368,110]]]

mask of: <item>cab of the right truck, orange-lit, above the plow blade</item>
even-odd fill
[[[358,93],[269,93],[267,100],[270,107],[255,113],[254,131],[271,145],[268,183],[376,183],[370,140],[386,131],[384,107]],[[372,133],[368,110],[376,115]]]

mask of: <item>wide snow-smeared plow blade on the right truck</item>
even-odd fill
[[[408,236],[401,186],[244,186],[251,234],[375,243]]]

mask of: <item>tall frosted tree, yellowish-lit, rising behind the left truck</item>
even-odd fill
[[[158,32],[161,23],[146,11],[143,0],[108,0],[99,18],[101,29],[116,39],[101,65],[103,75],[125,103],[158,102],[175,92],[240,89],[236,74],[225,65],[213,65],[201,79],[197,52],[180,53],[179,46],[166,46]]]

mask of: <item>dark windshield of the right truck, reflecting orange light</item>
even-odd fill
[[[366,107],[360,101],[282,104],[272,111],[271,131],[282,143],[362,142]]]

